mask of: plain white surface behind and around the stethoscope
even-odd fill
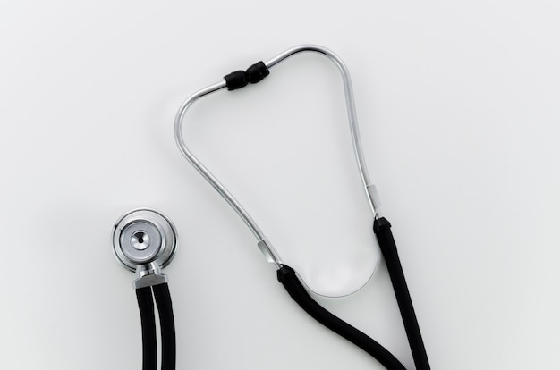
[[[140,368],[133,275],[109,235],[149,206],[179,230],[165,270],[177,368],[381,368],[295,306],[174,144],[184,98],[302,43],[351,71],[432,367],[560,367],[559,12],[545,0],[2,2],[2,367]],[[188,116],[195,153],[311,288],[367,281],[378,250],[331,63],[294,57]],[[359,292],[318,300],[412,368],[382,261]]]

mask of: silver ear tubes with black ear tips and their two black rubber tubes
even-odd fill
[[[398,359],[396,359],[389,351],[387,351],[383,346],[381,346],[377,341],[374,341],[369,336],[360,332],[352,325],[345,323],[340,318],[332,315],[324,307],[321,307],[318,302],[310,297],[307,290],[303,287],[301,283],[301,278],[298,277],[297,273],[288,265],[280,260],[276,251],[270,245],[267,237],[260,230],[259,225],[250,217],[250,214],[239,204],[239,202],[233,198],[232,194],[229,193],[227,189],[216,179],[216,177],[208,171],[208,169],[200,163],[199,159],[194,156],[189,148],[186,146],[183,136],[182,136],[182,122],[184,121],[184,116],[189,109],[189,107],[199,100],[201,97],[205,97],[208,94],[214,93],[223,88],[228,88],[228,90],[233,90],[237,88],[243,88],[247,86],[248,83],[257,83],[264,79],[269,71],[269,68],[274,67],[277,63],[280,63],[287,59],[288,57],[295,55],[300,52],[316,52],[327,56],[341,72],[343,83],[344,83],[344,96],[346,99],[346,107],[348,112],[348,120],[350,123],[350,130],[352,133],[352,144],[354,148],[354,156],[357,160],[359,172],[361,175],[361,181],[363,187],[366,191],[366,195],[369,201],[369,206],[371,208],[374,227],[373,230],[378,239],[378,244],[381,249],[383,256],[386,259],[387,270],[395,290],[395,298],[403,318],[403,324],[405,332],[411,347],[412,357],[414,359],[414,364],[417,370],[429,370],[428,356],[426,354],[426,349],[420,335],[420,327],[412,307],[412,299],[410,297],[410,292],[406,284],[403,267],[400,263],[398,257],[395,240],[391,232],[391,224],[386,220],[386,218],[381,217],[378,209],[378,198],[377,192],[373,184],[369,181],[369,174],[365,164],[365,159],[361,147],[360,131],[358,130],[358,124],[356,119],[356,110],[354,105],[354,97],[352,93],[352,80],[350,79],[350,74],[346,69],[346,66],[342,60],[335,55],[330,50],[322,46],[295,46],[291,49],[286,50],[284,53],[277,55],[267,63],[259,62],[250,66],[247,71],[234,71],[229,75],[225,76],[225,80],[218,82],[208,88],[202,88],[198,92],[188,97],[179,108],[175,116],[174,124],[174,135],[175,141],[181,150],[183,156],[196,168],[196,170],[217,190],[217,192],[225,198],[227,203],[233,207],[235,212],[239,214],[242,220],[247,224],[250,231],[253,232],[257,240],[259,240],[258,246],[263,251],[269,262],[276,265],[278,280],[284,285],[284,288],[288,291],[288,294],[292,299],[311,317],[317,320],[320,324],[325,325],[330,330],[343,336],[346,340],[351,341],[361,349],[365,350],[372,357],[378,359],[378,361],[386,366],[389,370],[403,370],[404,366]]]

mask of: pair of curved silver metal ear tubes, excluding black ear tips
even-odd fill
[[[369,207],[374,218],[378,218],[379,216],[379,206],[377,200],[377,192],[375,191],[375,186],[370,183],[369,181],[369,173],[366,166],[366,162],[363,156],[363,150],[361,147],[361,139],[360,139],[360,130],[358,129],[358,120],[356,116],[356,106],[354,104],[354,97],[352,91],[352,80],[350,78],[350,73],[348,69],[344,65],[343,61],[335,55],[332,51],[328,50],[322,46],[314,46],[314,45],[303,45],[303,46],[295,46],[291,49],[284,51],[280,55],[276,55],[274,58],[266,62],[267,68],[273,68],[276,64],[283,62],[285,59],[289,58],[292,55],[301,53],[301,52],[315,52],[321,55],[327,56],[333,63],[335,63],[336,67],[340,71],[344,83],[344,97],[346,100],[346,109],[348,112],[348,121],[350,123],[350,130],[352,134],[352,144],[354,149],[354,156],[356,158],[358,164],[358,170],[361,176],[361,182],[363,188],[365,190],[366,196],[368,198]],[[242,220],[247,224],[250,231],[253,232],[255,237],[258,240],[258,246],[262,250],[262,252],[267,256],[267,260],[274,265],[276,268],[280,268],[282,262],[280,257],[267,240],[267,237],[263,234],[260,230],[259,225],[255,223],[255,221],[250,217],[250,214],[241,206],[241,204],[233,198],[232,194],[225,189],[224,185],[222,185],[216,177],[208,171],[208,169],[200,163],[199,159],[194,156],[189,148],[185,145],[184,139],[182,137],[182,122],[184,121],[184,116],[187,110],[191,107],[194,102],[199,100],[200,97],[205,97],[208,94],[214,93],[218,90],[225,88],[225,80],[218,82],[214,85],[208,86],[208,88],[202,88],[201,90],[197,91],[191,97],[188,97],[179,108],[179,111],[175,115],[175,124],[174,124],[174,135],[175,141],[177,146],[181,150],[183,156],[187,158],[187,160],[199,171],[199,173],[204,177],[213,187],[217,190],[217,192],[227,201],[227,203],[233,207],[235,212],[240,215]]]

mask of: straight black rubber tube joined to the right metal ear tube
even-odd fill
[[[404,330],[411,346],[412,358],[417,370],[429,370],[428,355],[420,334],[420,326],[412,307],[411,294],[404,279],[403,266],[396,250],[395,239],[391,232],[391,223],[386,218],[381,217],[373,223],[373,231],[375,232],[381,253],[385,257],[387,270],[401,316],[403,317]]]

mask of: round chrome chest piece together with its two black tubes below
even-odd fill
[[[148,208],[123,214],[113,228],[113,250],[119,262],[138,277],[134,281],[142,325],[142,368],[156,370],[158,352],[161,368],[174,370],[176,362],[175,322],[167,276],[161,269],[175,255],[177,231],[174,224]],[[156,307],[159,324],[156,324]],[[157,326],[161,334],[157,349]]]

